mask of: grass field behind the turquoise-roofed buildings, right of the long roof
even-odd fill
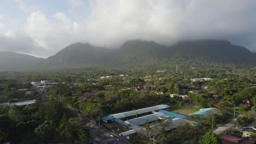
[[[200,109],[197,107],[191,107],[191,106],[178,106],[178,105],[170,105],[171,112],[175,113],[182,113],[184,115],[188,115],[189,113],[199,111]]]

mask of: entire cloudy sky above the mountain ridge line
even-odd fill
[[[256,52],[254,0],[1,0],[0,50],[48,57],[81,42],[225,39]]]

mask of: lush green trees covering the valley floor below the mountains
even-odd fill
[[[198,122],[196,125],[186,124],[172,130],[162,129],[165,133],[155,137],[156,143],[198,143],[203,139],[213,141],[216,136],[207,132],[212,126],[231,119],[227,114],[233,112],[231,107],[236,107],[236,112],[245,116],[250,113],[251,120],[255,118],[255,67],[201,62],[177,65],[177,71],[176,64],[166,63],[158,67],[136,65],[105,70],[87,68],[2,72],[1,103],[15,102],[20,98],[43,99],[29,83],[31,81],[46,79],[59,84],[45,90],[49,98],[44,103],[10,107],[0,105],[0,141],[86,143],[90,141],[89,129],[84,127],[86,123],[80,121],[77,113],[73,111],[75,109],[81,109],[94,121],[98,121],[99,115],[102,117],[158,104],[168,104],[171,111],[185,114],[207,107],[217,107],[220,110],[219,113],[207,117],[189,116],[188,118]],[[196,77],[209,77],[212,80],[190,80]],[[19,91],[19,88],[28,89]],[[190,93],[191,90],[200,91]],[[27,91],[32,91],[33,94],[26,95]],[[174,93],[187,94],[189,97],[170,98],[170,94]],[[213,103],[212,99],[219,99],[220,102]],[[246,99],[250,101],[249,104],[244,102]],[[179,109],[184,103],[194,104],[197,108]],[[179,111],[175,111],[178,109]],[[238,118],[237,124],[247,122],[247,119]],[[150,141],[143,134],[138,134],[137,137],[139,140]]]

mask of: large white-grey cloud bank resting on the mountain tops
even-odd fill
[[[70,2],[79,6],[83,1]],[[55,13],[53,20],[42,11],[33,11],[26,33],[53,53],[78,41],[112,47],[129,39],[161,44],[183,39],[228,39],[244,44],[245,37],[255,39],[255,1],[94,0],[89,7],[86,19],[77,22],[65,13]]]

